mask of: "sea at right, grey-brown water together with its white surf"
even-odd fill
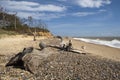
[[[75,37],[74,39],[93,44],[120,48],[120,37]]]

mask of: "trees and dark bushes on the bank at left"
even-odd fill
[[[0,29],[15,31],[20,34],[49,32],[45,23],[37,22],[37,25],[32,25],[34,20],[31,16],[28,16],[28,19],[20,19],[16,14],[9,14],[3,7],[0,7]]]

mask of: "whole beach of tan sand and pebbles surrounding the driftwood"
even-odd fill
[[[67,42],[72,38],[65,38]],[[39,37],[33,41],[32,36],[13,36],[0,39],[0,78],[6,80],[20,78],[20,80],[119,80],[120,77],[120,49],[105,45],[97,45],[72,39],[74,49],[86,54],[76,54],[66,51],[52,49],[53,53],[47,54],[39,69],[38,76],[28,71],[6,68],[5,64],[12,56],[19,53],[26,47],[39,49],[40,41],[51,40],[52,44],[56,42],[52,38]],[[3,73],[2,73],[3,72]],[[11,74],[12,73],[12,74]],[[24,74],[24,77],[21,76]]]

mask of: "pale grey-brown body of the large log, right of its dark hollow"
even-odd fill
[[[40,66],[44,65],[43,62],[45,58],[52,53],[53,51],[51,50],[51,48],[47,47],[41,51],[34,49],[31,54],[26,54],[22,57],[25,70],[33,74],[38,73]]]

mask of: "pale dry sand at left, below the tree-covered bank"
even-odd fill
[[[0,39],[0,55],[13,55],[22,51],[25,47],[39,48],[40,40],[45,37],[37,37],[37,41],[33,41],[33,36],[16,35]]]

